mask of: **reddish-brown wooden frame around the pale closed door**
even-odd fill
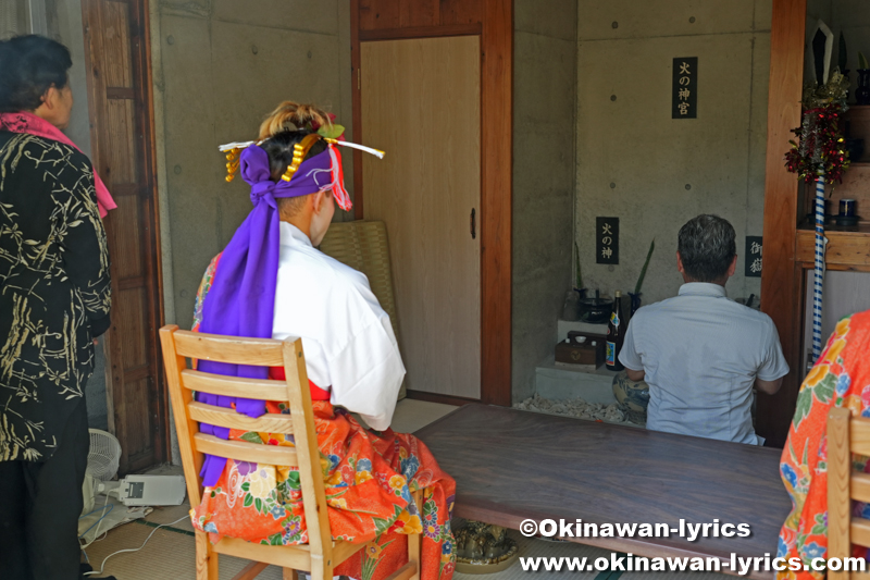
[[[353,139],[362,132],[362,41],[481,36],[481,403],[511,405],[511,251],[513,197],[513,2],[482,0],[478,22],[360,28],[360,0],[350,1]],[[362,155],[353,153],[355,218],[364,218]],[[410,398],[464,405],[477,399],[408,391]]]

